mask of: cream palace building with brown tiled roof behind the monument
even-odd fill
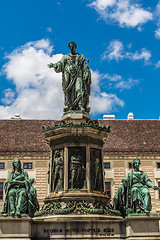
[[[96,120],[94,120],[96,121]],[[132,170],[131,162],[140,158],[141,170],[160,186],[160,120],[97,120],[110,126],[103,147],[106,194],[111,200],[121,180]],[[52,126],[55,120],[0,120],[0,212],[4,201],[4,182],[18,157],[22,168],[35,179],[40,205],[49,193],[48,169],[50,148],[43,139],[42,126]],[[152,212],[160,214],[160,193],[150,189]]]

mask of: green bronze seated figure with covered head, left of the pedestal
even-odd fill
[[[29,179],[28,173],[21,168],[20,160],[15,158],[13,169],[5,182],[3,216],[34,216],[39,210],[39,204],[33,183],[34,179]]]

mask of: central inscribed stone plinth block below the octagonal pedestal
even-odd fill
[[[33,239],[125,239],[122,217],[62,215],[34,218]]]

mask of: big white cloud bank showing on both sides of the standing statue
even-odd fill
[[[0,106],[0,118],[11,118],[19,113],[22,118],[60,119],[63,114],[62,75],[47,64],[57,62],[62,54],[53,54],[47,39],[29,42],[14,50],[3,67],[6,78],[14,83],[15,93],[5,90]],[[124,102],[114,94],[101,92],[101,74],[92,71],[91,113],[106,113]]]

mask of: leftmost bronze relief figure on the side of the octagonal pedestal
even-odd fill
[[[63,189],[63,150],[56,150],[54,152],[52,164],[52,191],[57,192]]]

